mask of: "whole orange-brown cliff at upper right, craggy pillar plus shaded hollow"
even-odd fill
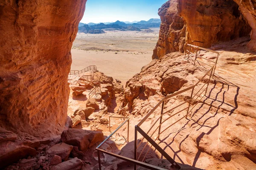
[[[186,42],[201,41],[209,48],[216,42],[250,34],[255,27],[255,11],[248,3],[233,0],[169,0],[158,11],[161,17],[159,40],[153,59],[170,52],[183,52]],[[241,10],[241,11],[240,11]],[[249,23],[247,22],[249,21]],[[254,47],[252,31],[249,47]]]

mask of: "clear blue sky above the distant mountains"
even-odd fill
[[[81,23],[140,21],[160,18],[157,14],[167,0],[87,0]]]

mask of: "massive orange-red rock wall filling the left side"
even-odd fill
[[[0,126],[61,133],[71,47],[87,0],[0,2]]]

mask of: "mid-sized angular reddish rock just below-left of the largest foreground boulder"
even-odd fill
[[[65,144],[65,143],[58,143],[53,145],[47,150],[47,153],[58,155],[61,157],[63,161],[67,161],[68,157],[70,156],[70,152],[73,149],[73,146]]]

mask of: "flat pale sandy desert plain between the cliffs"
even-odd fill
[[[98,70],[125,85],[151,61],[159,28],[144,31],[106,31],[106,34],[78,33],[73,42],[71,70],[96,65]]]

